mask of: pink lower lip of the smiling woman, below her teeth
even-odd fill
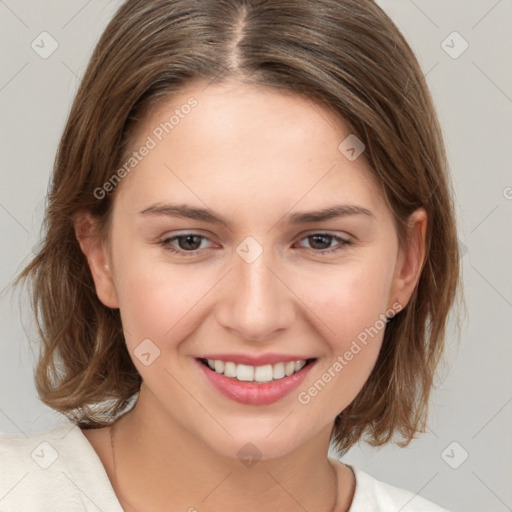
[[[199,368],[206,378],[224,396],[241,404],[268,405],[281,400],[281,398],[296,389],[304,381],[315,364],[315,361],[311,361],[300,371],[289,377],[283,377],[282,379],[262,384],[256,382],[242,382],[231,377],[226,377],[206,367],[198,359],[196,359],[196,363],[199,365]]]

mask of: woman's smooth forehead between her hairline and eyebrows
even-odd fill
[[[347,137],[354,135],[340,116],[289,91],[196,82],[141,122],[132,149],[151,149],[119,193],[137,207],[167,200],[239,212],[322,201],[384,207],[364,152],[351,160],[340,150]]]

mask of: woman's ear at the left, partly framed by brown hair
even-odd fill
[[[114,280],[109,265],[106,239],[97,230],[98,221],[89,212],[77,214],[74,218],[75,234],[80,248],[87,258],[96,294],[109,308],[118,308]]]

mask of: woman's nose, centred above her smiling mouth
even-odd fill
[[[249,262],[238,253],[217,304],[218,322],[233,336],[264,342],[295,321],[294,293],[270,250]]]

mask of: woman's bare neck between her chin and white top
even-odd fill
[[[330,428],[327,446],[322,446],[325,440],[315,440],[284,457],[255,457],[251,462],[219,455],[170,418],[165,422],[154,418],[140,398],[111,429],[113,485],[125,510],[256,512],[267,506],[282,512],[337,512],[348,508],[338,508],[338,471],[327,458]],[[245,449],[251,453],[249,447]]]

